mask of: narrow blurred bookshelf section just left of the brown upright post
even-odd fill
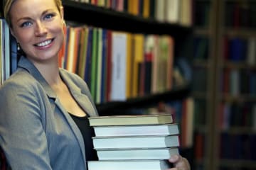
[[[215,115],[217,1],[193,1],[194,164],[192,169],[212,169]]]

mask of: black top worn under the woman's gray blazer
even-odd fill
[[[92,137],[95,136],[95,132],[92,127],[90,127],[87,115],[84,117],[78,117],[71,115],[71,118],[75,121],[82,133],[82,137],[85,143],[85,157],[86,161],[98,160],[97,152],[93,149]]]

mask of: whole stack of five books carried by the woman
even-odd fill
[[[168,169],[178,154],[179,130],[171,114],[113,115],[89,118],[98,161],[89,170]]]

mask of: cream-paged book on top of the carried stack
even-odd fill
[[[159,115],[110,115],[89,118],[90,126],[100,125],[156,125],[174,123],[171,114]]]

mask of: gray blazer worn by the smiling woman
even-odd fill
[[[85,81],[64,69],[60,76],[81,108],[97,116]],[[14,170],[87,169],[78,126],[26,57],[0,89],[0,146]]]

